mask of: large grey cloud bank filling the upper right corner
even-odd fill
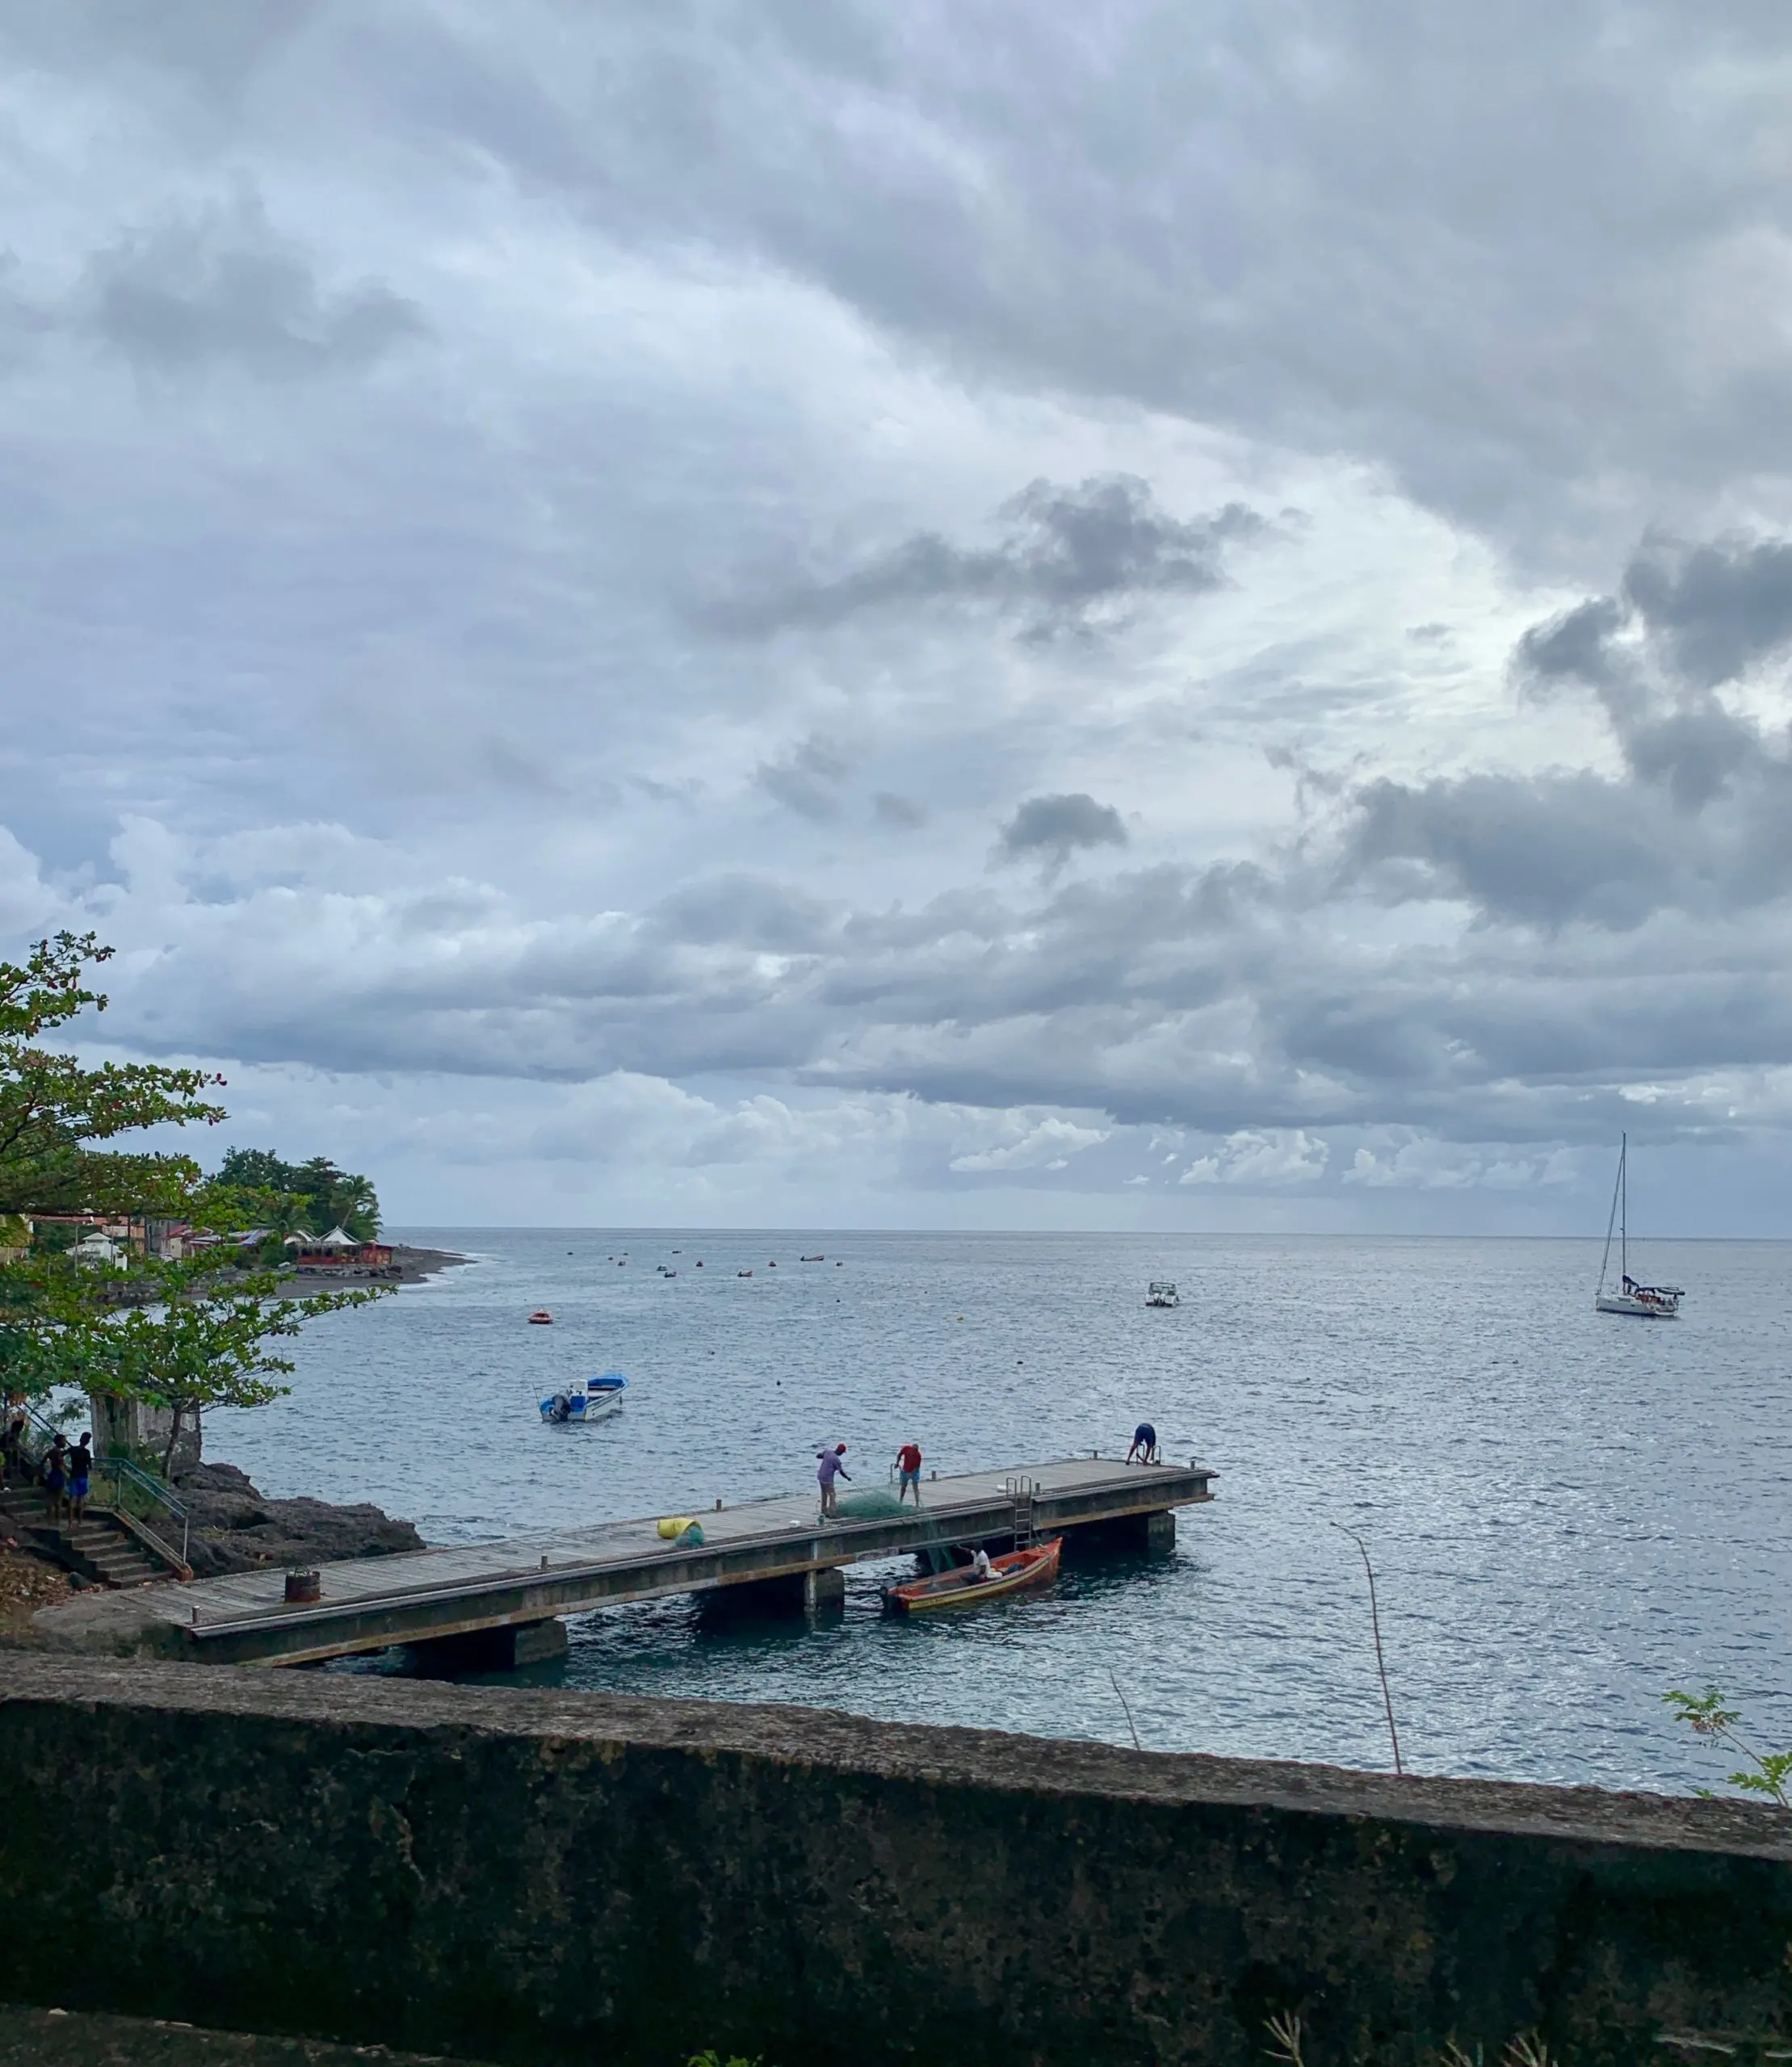
[[[1792,33],[1730,12],[1711,64],[1709,14],[1618,19],[1354,0],[1197,45],[1168,0],[1000,37],[668,4],[606,17],[601,58],[519,33],[480,91],[475,37],[438,62],[484,149],[618,236],[752,252],[1025,391],[1372,455],[1550,558],[1792,467]]]

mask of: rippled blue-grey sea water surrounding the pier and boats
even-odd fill
[[[1172,1559],[940,1625],[878,1616],[889,1567],[849,1573],[818,1629],[606,1610],[573,1623],[570,1687],[1126,1742],[1112,1672],[1147,1747],[1385,1765],[1337,1517],[1374,1554],[1412,1767],[1716,1786],[1724,1763],[1658,1699],[1707,1680],[1792,1745],[1788,1244],[1654,1244],[1689,1296],[1641,1323],[1594,1315],[1596,1242],[409,1238],[482,1263],[316,1323],[291,1397],[213,1416],[213,1455],[273,1494],[378,1501],[430,1542],[785,1492],[831,1439],[883,1484],[909,1434],[953,1472],[1124,1451],[1149,1416],[1168,1455],[1219,1472]],[[1180,1308],[1145,1308],[1153,1275]],[[525,1325],[537,1304],[552,1329]],[[539,1424],[539,1393],[612,1366],[620,1414]]]

